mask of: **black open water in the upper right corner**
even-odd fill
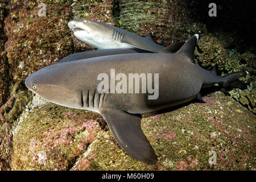
[[[209,3],[217,5],[217,16],[209,18]],[[255,47],[256,34],[256,1],[255,0],[196,0],[188,2],[195,10],[195,17],[203,22],[209,32],[222,29],[225,32],[236,32],[246,46]],[[218,6],[220,5],[220,6]]]

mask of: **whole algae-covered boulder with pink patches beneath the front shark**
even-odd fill
[[[143,114],[142,130],[158,156],[158,163],[150,165],[118,146],[100,114],[35,96],[13,132],[11,168],[255,170],[255,115],[220,92],[203,99],[206,104]],[[210,151],[216,152],[216,164],[209,164]]]

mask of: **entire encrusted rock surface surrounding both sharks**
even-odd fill
[[[41,2],[46,16],[38,14]],[[210,32],[195,18],[194,7],[177,0],[0,0],[0,170],[255,170],[255,48],[243,45],[234,31]],[[143,131],[158,163],[138,162],[121,150],[101,115],[49,104],[24,86],[32,72],[94,49],[68,28],[69,20],[80,18],[141,36],[151,31],[163,46],[201,31],[196,63],[217,64],[220,75],[249,71],[241,78],[248,87],[229,91],[236,101],[214,93],[204,98],[207,104],[143,114]],[[209,151],[216,152],[216,165],[209,165]]]

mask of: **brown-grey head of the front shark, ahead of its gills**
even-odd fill
[[[58,70],[58,71],[56,71]],[[25,80],[28,89],[49,102],[66,107],[81,109],[81,92],[74,85],[67,85],[67,78],[63,77],[65,68],[51,65],[32,73]],[[71,77],[72,73],[68,73]]]

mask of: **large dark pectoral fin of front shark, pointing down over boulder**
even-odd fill
[[[109,125],[119,146],[131,157],[155,164],[157,157],[141,129],[141,118],[118,109],[104,109],[100,113]]]

